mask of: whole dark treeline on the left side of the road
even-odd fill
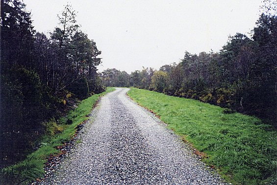
[[[0,1],[0,164],[19,161],[57,118],[66,99],[104,91],[96,42],[76,23],[68,4],[48,38],[34,30],[21,0]]]

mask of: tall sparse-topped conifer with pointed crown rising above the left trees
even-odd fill
[[[78,72],[74,68],[71,42],[78,29],[76,24],[76,12],[67,4],[61,15],[58,15],[59,27],[56,27],[51,36],[52,47],[57,51],[55,65],[53,65],[52,87],[55,94],[63,91],[68,85],[77,79]]]

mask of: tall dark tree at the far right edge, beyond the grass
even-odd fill
[[[277,17],[262,14],[253,29],[256,57],[249,72],[249,109],[264,116],[277,115]],[[275,116],[276,118],[276,116]]]

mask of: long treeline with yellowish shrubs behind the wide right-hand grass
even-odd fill
[[[135,86],[168,95],[193,98],[256,115],[276,125],[277,17],[262,14],[251,38],[237,33],[220,52],[185,52],[179,63],[143,68],[128,75],[107,69],[107,86]]]

